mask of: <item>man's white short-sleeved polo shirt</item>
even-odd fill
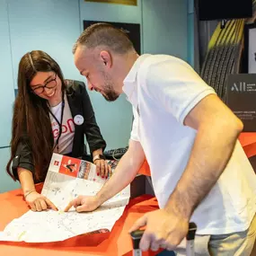
[[[131,139],[145,151],[162,208],[186,168],[197,133],[183,121],[215,91],[186,62],[164,55],[139,57],[124,80],[123,91],[135,116]],[[197,234],[229,234],[246,230],[255,212],[256,175],[237,141],[225,171],[191,221],[198,225]]]

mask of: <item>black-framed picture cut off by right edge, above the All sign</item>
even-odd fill
[[[244,25],[243,72],[256,74],[256,24]]]

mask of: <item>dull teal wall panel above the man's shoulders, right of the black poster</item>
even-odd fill
[[[144,0],[142,8],[144,52],[187,60],[187,0]]]

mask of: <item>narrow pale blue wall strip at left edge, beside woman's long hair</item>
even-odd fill
[[[13,91],[13,66],[11,44],[9,37],[9,23],[7,0],[0,0],[0,192],[19,187],[5,172],[5,165],[9,158],[9,145],[11,139],[12,107],[14,100]]]

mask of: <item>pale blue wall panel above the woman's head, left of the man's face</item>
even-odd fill
[[[66,78],[81,78],[72,54],[80,35],[78,1],[8,0],[8,4],[15,79],[21,57],[33,49],[49,53]]]

